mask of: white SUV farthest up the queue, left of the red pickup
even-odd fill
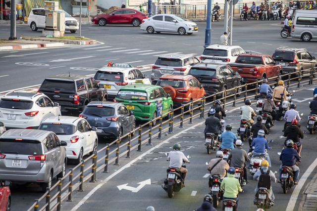
[[[200,60],[205,63],[234,63],[239,54],[246,53],[239,45],[212,44],[205,48]]]

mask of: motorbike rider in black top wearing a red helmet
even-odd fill
[[[301,128],[299,128],[297,126],[297,120],[293,119],[291,121],[291,125],[289,127],[287,127],[284,131],[284,136],[286,137],[286,140],[293,140],[294,144],[296,144],[297,146],[297,151],[299,154],[299,157],[301,158],[301,151],[302,151],[302,143],[300,141],[300,138],[304,138],[304,133],[301,130]],[[286,141],[284,142],[284,145],[286,146]]]

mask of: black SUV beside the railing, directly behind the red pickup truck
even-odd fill
[[[194,65],[188,75],[194,76],[204,85],[207,95],[242,85],[242,77],[227,64],[200,63]],[[238,88],[237,92],[241,91],[242,88]],[[234,90],[231,93],[234,93]],[[237,94],[237,96],[240,95]],[[217,96],[223,97],[223,94],[218,94]]]

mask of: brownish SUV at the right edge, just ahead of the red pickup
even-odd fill
[[[279,47],[274,51],[272,58],[282,65],[283,74],[299,70],[310,72],[312,68],[317,72],[316,58],[305,48]]]

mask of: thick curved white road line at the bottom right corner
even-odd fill
[[[306,180],[308,179],[309,175],[313,172],[313,170],[316,168],[316,166],[317,166],[317,158],[315,159],[315,161],[313,161],[311,166],[308,167],[308,169],[305,171],[303,176],[298,181],[298,184],[295,186],[295,189],[292,193],[291,198],[289,199],[289,202],[288,202],[288,205],[286,208],[287,211],[294,210],[297,199],[298,199],[298,195],[301,193],[301,190],[302,190]]]

